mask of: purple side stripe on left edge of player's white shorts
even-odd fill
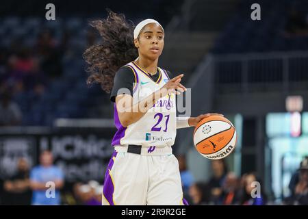
[[[116,157],[117,152],[114,151],[112,154],[112,158]],[[114,205],[114,183],[112,183],[112,178],[110,177],[109,170],[112,170],[112,166],[114,166],[114,159],[110,159],[110,162],[107,166],[107,170],[105,173],[105,180],[103,185],[103,195],[105,196],[106,200],[110,205]]]

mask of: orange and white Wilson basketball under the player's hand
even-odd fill
[[[223,116],[203,118],[193,136],[196,150],[208,159],[222,159],[235,149],[235,127]]]

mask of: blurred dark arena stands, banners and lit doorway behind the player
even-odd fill
[[[55,5],[55,21],[45,5]],[[252,20],[251,5],[261,6]],[[166,30],[159,66],[192,88],[192,116],[224,114],[235,125],[235,152],[225,159],[241,177],[256,172],[268,204],[290,196],[292,174],[308,155],[308,1],[3,1],[0,8],[1,99],[21,117],[0,127],[0,203],[3,182],[19,157],[30,168],[50,149],[65,172],[63,205],[75,205],[76,183],[103,183],[116,129],[109,94],[86,85],[82,53],[100,41],[89,25],[110,8],[138,23],[155,18]],[[46,45],[49,49],[46,49]],[[289,99],[287,99],[289,97]],[[194,182],[209,181],[211,161],[194,149],[193,129],[178,130]],[[188,194],[185,194],[189,198]]]

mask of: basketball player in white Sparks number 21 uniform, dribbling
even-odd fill
[[[84,53],[88,83],[99,82],[111,91],[118,129],[103,205],[187,204],[172,145],[177,129],[196,126],[211,114],[176,117],[175,94],[186,88],[180,83],[183,74],[172,78],[157,67],[164,49],[164,29],[157,21],[146,19],[133,29],[123,14],[109,12],[107,19],[91,25],[103,42]]]

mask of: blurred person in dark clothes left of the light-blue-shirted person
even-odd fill
[[[5,205],[30,205],[29,164],[25,158],[18,159],[16,174],[4,181],[3,188]]]

